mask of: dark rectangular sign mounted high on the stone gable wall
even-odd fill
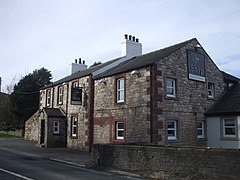
[[[196,81],[206,82],[204,55],[195,51],[187,51],[188,78]]]

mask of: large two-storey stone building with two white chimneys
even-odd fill
[[[35,124],[36,140],[47,147],[59,139],[86,151],[93,143],[206,146],[206,111],[239,81],[220,71],[196,38],[142,55],[139,40],[125,35],[120,58],[90,68],[76,60],[71,69],[40,91],[26,138]],[[50,140],[55,129],[58,140]]]

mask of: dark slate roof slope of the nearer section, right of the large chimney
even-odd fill
[[[131,58],[127,61],[122,62],[120,65],[94,77],[94,79],[101,79],[103,77],[108,77],[108,76],[112,76],[115,74],[119,74],[119,73],[124,73],[124,72],[129,72],[132,70],[136,70],[136,69],[140,69],[142,67],[146,67],[149,66],[153,63],[155,63],[156,61],[165,58],[166,56],[172,54],[173,52],[177,51],[178,49],[182,48],[183,46],[187,45],[189,42],[196,40],[196,38],[187,40],[185,42],[179,43],[179,44],[175,44],[173,46],[169,46],[167,48],[164,49],[160,49],[151,53],[147,53],[141,56],[137,56],[134,58]]]

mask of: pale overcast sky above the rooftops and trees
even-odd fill
[[[124,34],[143,53],[196,37],[217,66],[240,77],[239,0],[0,0],[2,90],[41,67],[119,57]]]

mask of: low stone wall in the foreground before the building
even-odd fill
[[[196,147],[94,145],[97,166],[159,179],[237,179],[240,151]]]

